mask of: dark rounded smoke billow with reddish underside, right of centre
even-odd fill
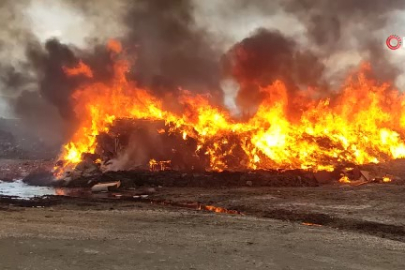
[[[300,86],[317,87],[324,65],[307,50],[300,50],[293,39],[279,31],[257,30],[236,44],[224,57],[224,70],[240,85],[237,104],[251,111],[264,96],[259,87],[283,81],[290,95]]]

